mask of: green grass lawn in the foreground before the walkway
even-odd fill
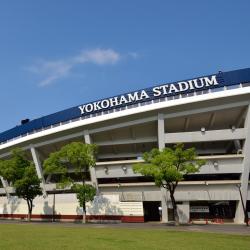
[[[250,249],[250,237],[164,229],[0,224],[0,249]]]

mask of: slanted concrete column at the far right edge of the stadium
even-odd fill
[[[241,174],[241,193],[244,206],[246,207],[247,195],[248,195],[248,179],[250,170],[250,106],[248,106],[245,118],[245,130],[246,139],[243,147],[243,163],[242,163],[242,174]],[[235,222],[244,223],[244,210],[239,194],[239,201],[236,204]]]

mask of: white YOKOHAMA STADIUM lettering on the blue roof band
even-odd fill
[[[150,101],[156,98],[172,96],[177,94],[190,93],[197,90],[210,89],[219,85],[216,75],[195,78],[188,81],[164,84],[140,91],[127,93],[120,96],[95,101],[79,106],[81,115],[102,111],[105,109],[131,105],[138,102]]]

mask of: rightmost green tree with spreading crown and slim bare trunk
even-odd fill
[[[183,144],[176,144],[173,148],[163,150],[152,149],[144,153],[143,159],[144,163],[133,166],[134,172],[152,177],[157,186],[169,191],[175,223],[179,224],[174,197],[176,187],[184,179],[184,175],[198,172],[205,161],[197,159],[195,148],[184,149]]]

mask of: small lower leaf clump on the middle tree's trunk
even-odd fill
[[[93,201],[96,195],[96,189],[89,184],[74,184],[72,190],[76,193],[77,200],[84,209],[86,202]]]

